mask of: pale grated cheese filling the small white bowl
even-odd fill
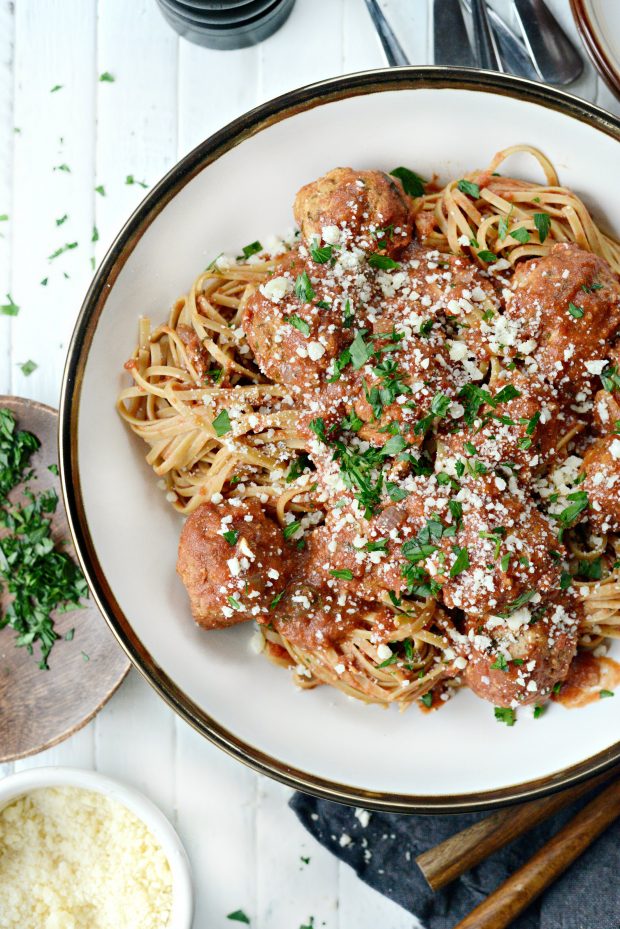
[[[165,929],[171,908],[168,859],[122,804],[49,787],[0,811],[2,929]]]

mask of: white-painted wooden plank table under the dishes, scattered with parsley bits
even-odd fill
[[[568,0],[551,5],[575,35]],[[385,9],[412,63],[431,62],[427,0]],[[236,52],[179,39],[154,0],[0,0],[0,304],[8,293],[20,306],[0,317],[0,393],[58,404],[93,265],[143,193],[128,175],[150,185],[256,103],[383,64],[363,0],[297,0],[279,33]],[[620,113],[589,63],[571,90]],[[29,360],[38,367],[25,376]],[[226,914],[240,908],[254,929],[298,929],[311,916],[317,929],[416,925],[307,836],[286,788],[213,748],[135,671],[89,726],[0,776],[49,764],[97,768],[163,808],[192,860],[195,929],[233,926]]]

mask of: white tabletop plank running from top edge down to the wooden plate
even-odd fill
[[[22,309],[13,324],[13,360],[32,359],[39,367],[29,378],[14,368],[12,386],[53,405],[91,274],[95,25],[94,4],[83,0],[49,0],[45,15],[37,4],[15,7],[14,119],[21,132],[12,287]],[[39,283],[45,278],[47,287]]]

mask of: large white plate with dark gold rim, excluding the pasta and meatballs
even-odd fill
[[[114,632],[143,674],[205,736],[257,770],[342,802],[392,810],[491,807],[620,759],[620,699],[498,725],[469,692],[439,713],[297,692],[249,647],[252,629],[206,633],[176,577],[180,518],[166,506],[115,398],[137,320],[170,304],[221,251],[286,229],[291,201],[335,165],[409,165],[441,178],[499,149],[538,145],[562,183],[620,230],[620,122],[503,75],[403,68],[337,78],[264,104],[207,139],[151,191],[86,297],[61,403],[61,465],[76,548]],[[515,158],[511,173],[530,176]],[[534,175],[534,179],[535,179]]]

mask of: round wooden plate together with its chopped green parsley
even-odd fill
[[[71,735],[129,668],[70,543],[57,419],[0,397],[0,762]]]

